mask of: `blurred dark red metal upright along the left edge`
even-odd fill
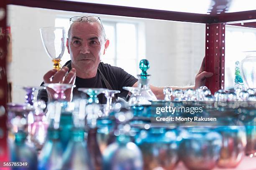
[[[7,153],[7,128],[6,128],[6,102],[7,102],[7,78],[6,78],[6,0],[0,0],[0,30],[4,36],[0,36],[0,161],[8,160]]]

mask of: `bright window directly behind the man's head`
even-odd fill
[[[56,27],[65,27],[66,32],[70,27],[69,18],[56,18]],[[106,54],[101,61],[113,66],[121,67],[129,74],[137,77],[138,74],[138,25],[136,23],[104,21],[107,38],[110,40]],[[61,65],[70,60],[65,50]]]

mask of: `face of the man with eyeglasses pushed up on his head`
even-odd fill
[[[109,41],[103,40],[101,25],[96,22],[73,23],[67,49],[71,57],[72,67],[82,72],[97,70],[100,57],[105,54]]]

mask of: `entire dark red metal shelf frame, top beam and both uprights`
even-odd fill
[[[214,1],[215,5],[213,6],[212,13],[210,13],[210,15],[152,10],[115,5],[92,4],[85,2],[72,2],[64,0],[0,0],[0,9],[6,11],[6,4],[13,4],[28,7],[41,7],[54,10],[67,10],[84,13],[98,13],[106,15],[120,15],[127,17],[205,23],[205,69],[206,71],[214,73],[214,75],[211,78],[207,79],[206,85],[210,88],[212,93],[214,93],[215,91],[224,88],[225,23],[256,19],[256,10],[243,11],[238,13],[225,13],[224,11],[219,15],[216,15],[218,6],[225,5],[228,3],[228,1]],[[5,26],[6,15],[2,20],[0,20],[0,27],[5,28]],[[3,40],[0,40],[0,48],[3,48],[4,51],[6,51],[6,37]],[[5,75],[6,53],[3,58],[0,58],[0,67],[4,70],[4,76],[2,76],[2,79],[0,80],[0,106],[2,105],[5,107],[7,98],[7,79]],[[1,94],[1,90],[3,91],[3,95]],[[5,114],[2,116],[0,115],[0,161],[7,159],[6,132],[7,128]]]

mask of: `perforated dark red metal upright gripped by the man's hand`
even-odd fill
[[[205,71],[213,72],[206,80],[212,93],[224,89],[225,24],[205,25]]]

